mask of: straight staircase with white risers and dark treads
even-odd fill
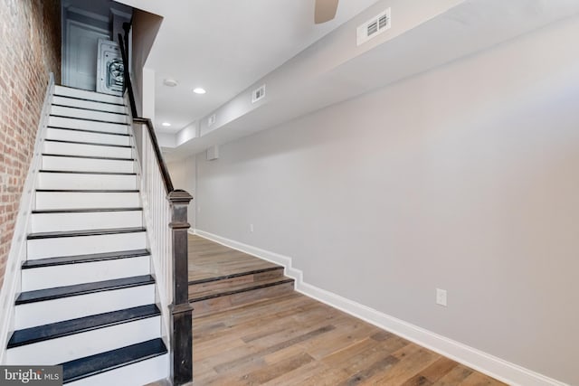
[[[56,86],[5,364],[70,385],[168,376],[127,108]]]

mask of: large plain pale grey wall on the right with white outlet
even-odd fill
[[[579,384],[576,36],[574,18],[197,155],[196,228]]]

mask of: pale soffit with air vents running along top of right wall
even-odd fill
[[[377,37],[373,47],[365,50],[366,43],[356,48],[352,31],[384,4],[393,5],[393,14],[395,10],[392,29]],[[429,5],[432,9],[426,12]],[[199,135],[183,140],[176,136],[175,145],[166,144],[165,158],[176,161],[276,127],[575,14],[579,14],[577,0],[377,2],[259,80],[270,90],[262,103],[250,103],[251,94],[244,90],[214,111],[217,122],[212,127],[203,119]]]

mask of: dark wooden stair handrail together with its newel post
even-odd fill
[[[125,34],[128,36],[130,24],[123,25]],[[172,256],[167,259],[172,259],[172,287],[173,287],[173,303],[169,306],[168,312],[171,315],[171,325],[167,325],[169,329],[169,339],[171,346],[171,369],[170,377],[172,384],[179,386],[190,384],[193,381],[193,308],[189,304],[188,299],[188,246],[187,246],[187,230],[190,225],[187,222],[187,206],[193,199],[191,194],[175,189],[171,176],[166,167],[165,159],[161,154],[161,149],[158,144],[157,135],[155,134],[155,127],[149,118],[138,117],[137,103],[135,101],[135,93],[130,81],[130,74],[128,71],[128,52],[125,48],[128,46],[128,41],[123,39],[119,33],[119,47],[120,54],[125,63],[124,80],[125,89],[128,91],[128,99],[130,102],[130,109],[132,113],[133,123],[147,126],[147,134],[153,147],[155,158],[163,184],[166,190],[166,199],[171,205],[171,222],[167,226],[171,230],[172,240]]]

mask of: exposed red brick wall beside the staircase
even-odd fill
[[[0,284],[49,73],[61,74],[60,0],[0,0]]]

